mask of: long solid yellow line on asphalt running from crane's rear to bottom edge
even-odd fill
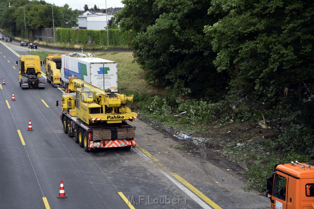
[[[138,144],[136,145],[136,148],[139,149],[141,152],[143,152],[147,157],[149,157],[150,159],[152,159],[155,162],[157,162],[158,165],[160,165],[161,167],[165,168],[166,170],[169,170],[169,168],[167,166],[165,166],[165,165],[161,164],[160,162],[158,162],[159,161],[158,159],[153,157],[153,155],[151,155],[145,149],[143,149],[140,146],[138,146]],[[210,200],[207,196],[205,196],[202,192],[200,192],[198,189],[196,189],[194,186],[192,186],[190,183],[188,183],[186,180],[184,180],[181,176],[179,176],[179,175],[177,175],[177,174],[175,174],[173,172],[170,172],[170,173],[171,173],[171,175],[173,175],[173,177],[175,177],[177,180],[179,180],[183,185],[185,185],[192,192],[194,192],[196,195],[198,195],[200,198],[202,198],[205,202],[207,202],[208,205],[214,207],[214,209],[222,209],[216,203],[214,203],[212,200]]]

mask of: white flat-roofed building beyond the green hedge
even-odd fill
[[[83,15],[78,16],[78,29],[105,30],[107,18],[109,21],[111,17],[113,15],[86,11]]]

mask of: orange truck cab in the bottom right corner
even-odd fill
[[[275,165],[267,178],[271,209],[314,209],[314,162]]]

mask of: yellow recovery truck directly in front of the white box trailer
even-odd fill
[[[46,70],[47,82],[51,83],[52,87],[60,86],[60,70],[61,70],[61,55],[48,55],[43,64]]]

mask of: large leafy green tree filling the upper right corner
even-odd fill
[[[212,1],[209,14],[221,19],[205,27],[218,53],[218,71],[232,76],[238,95],[262,101],[289,95],[307,99],[313,92],[314,2]]]

